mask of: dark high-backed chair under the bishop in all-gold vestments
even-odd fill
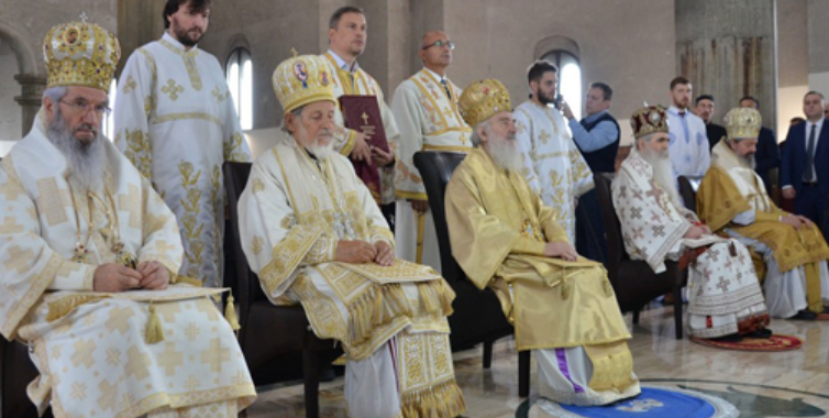
[[[515,332],[501,310],[497,296],[490,289],[479,290],[466,279],[461,266],[452,256],[449,242],[449,227],[444,195],[452,172],[465,157],[464,154],[450,152],[419,152],[414,154],[414,166],[423,178],[429,208],[434,219],[438,233],[438,246],[441,254],[443,277],[455,290],[452,302],[454,314],[449,317],[452,329],[450,341],[453,351],[466,350],[484,343],[484,369],[493,362],[493,343]],[[530,351],[518,353],[518,396],[530,395]]]

